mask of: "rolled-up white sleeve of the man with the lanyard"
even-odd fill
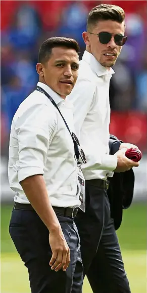
[[[18,117],[15,130],[18,138],[16,171],[19,182],[27,177],[44,174],[48,148],[53,139],[56,119],[45,104],[26,109]]]

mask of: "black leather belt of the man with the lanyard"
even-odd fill
[[[61,207],[61,206],[52,206],[52,207],[55,213],[58,213],[63,217],[75,218],[78,212],[78,208]],[[34,208],[32,207],[30,203],[15,202],[13,210],[34,211]]]

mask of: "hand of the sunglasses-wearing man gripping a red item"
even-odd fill
[[[125,156],[126,150],[126,148],[122,148],[114,154],[115,156],[117,156],[117,167],[114,172],[125,172],[129,171],[133,167],[139,166],[139,162],[134,162]]]

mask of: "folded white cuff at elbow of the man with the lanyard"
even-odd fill
[[[18,180],[19,182],[26,179],[27,177],[33,176],[33,175],[44,175],[44,172],[39,167],[24,167],[21,168],[18,171]]]

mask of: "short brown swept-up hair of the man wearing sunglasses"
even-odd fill
[[[122,23],[125,19],[124,10],[116,5],[100,4],[91,9],[87,19],[87,31],[99,20],[113,20]]]

